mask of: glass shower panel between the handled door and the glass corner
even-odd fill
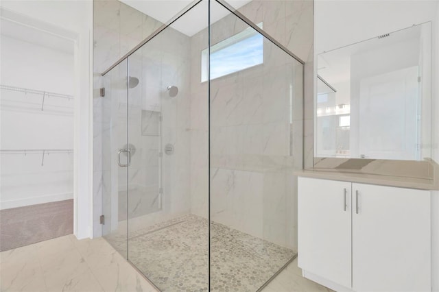
[[[206,13],[187,14],[181,19],[207,21]],[[182,25],[176,20],[128,57],[128,145],[135,149],[128,167],[128,260],[161,291],[206,291],[209,177],[198,165],[208,158],[208,87],[198,77],[202,87],[191,90],[191,60],[200,60],[200,52],[191,52],[191,38],[176,29]],[[206,38],[199,42],[208,45]],[[193,96],[202,104],[192,103]],[[191,106],[205,123],[195,127]]]

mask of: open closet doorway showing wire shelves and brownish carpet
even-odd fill
[[[75,42],[1,10],[0,251],[73,233]]]

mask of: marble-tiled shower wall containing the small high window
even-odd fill
[[[302,60],[312,61],[312,1],[252,1],[239,11],[254,23],[263,22],[265,32]],[[212,26],[211,43],[246,27],[235,16],[226,16]],[[208,132],[207,116],[199,113],[207,108],[207,84],[198,80],[206,41],[206,30],[191,38],[191,211],[203,217],[208,206]],[[294,63],[265,40],[263,65],[211,82],[212,219],[290,248],[296,247],[292,172],[302,169],[303,125],[302,66]]]

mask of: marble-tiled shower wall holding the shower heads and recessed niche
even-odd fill
[[[129,75],[139,78],[128,91],[128,139],[137,148],[128,170],[128,218],[136,218],[130,229],[189,213],[189,64],[189,37],[171,27],[129,58]],[[178,95],[169,97],[167,86],[177,86]],[[159,136],[143,134],[142,117],[151,113],[161,117]],[[167,144],[174,154],[160,158]]]

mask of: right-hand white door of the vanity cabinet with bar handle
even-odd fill
[[[431,291],[430,192],[352,190],[353,290]]]

